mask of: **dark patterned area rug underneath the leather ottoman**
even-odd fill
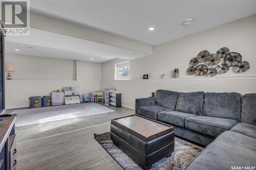
[[[131,156],[113,143],[110,132],[94,134],[94,138],[125,170],[143,169]],[[202,151],[201,147],[191,145],[175,137],[175,151],[172,156],[163,158],[152,165],[152,170],[184,169],[186,165]]]

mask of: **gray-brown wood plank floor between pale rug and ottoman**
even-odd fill
[[[122,169],[94,139],[94,133],[110,131],[112,118],[135,111],[110,108],[116,112],[19,127],[16,169]]]

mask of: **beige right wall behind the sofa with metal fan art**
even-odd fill
[[[193,23],[192,23],[193,24]],[[189,27],[189,26],[188,26]],[[122,91],[123,106],[134,107],[135,99],[150,96],[157,89],[175,91],[211,91],[211,92],[256,92],[256,15],[246,17],[225,25],[209,29],[197,34],[182,37],[154,47],[153,55],[130,61],[131,80],[114,81],[114,64],[120,59],[114,59],[101,64],[100,87],[114,87]],[[170,34],[172,34],[170,30]],[[216,53],[221,47],[228,47],[231,52],[242,55],[243,61],[250,63],[250,69],[241,74],[229,70],[226,74],[215,78],[200,79],[189,76],[186,70],[191,58],[202,50]],[[179,68],[179,79],[161,80],[173,77],[173,70]],[[143,74],[150,79],[139,80]]]

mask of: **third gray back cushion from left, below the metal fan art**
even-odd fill
[[[241,94],[209,93],[204,94],[203,116],[228,118],[239,121]]]

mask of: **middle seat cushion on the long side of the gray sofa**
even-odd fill
[[[195,114],[183,113],[178,111],[163,111],[158,113],[157,119],[170,124],[184,127],[185,119],[187,117],[196,117],[196,116],[197,115]]]

